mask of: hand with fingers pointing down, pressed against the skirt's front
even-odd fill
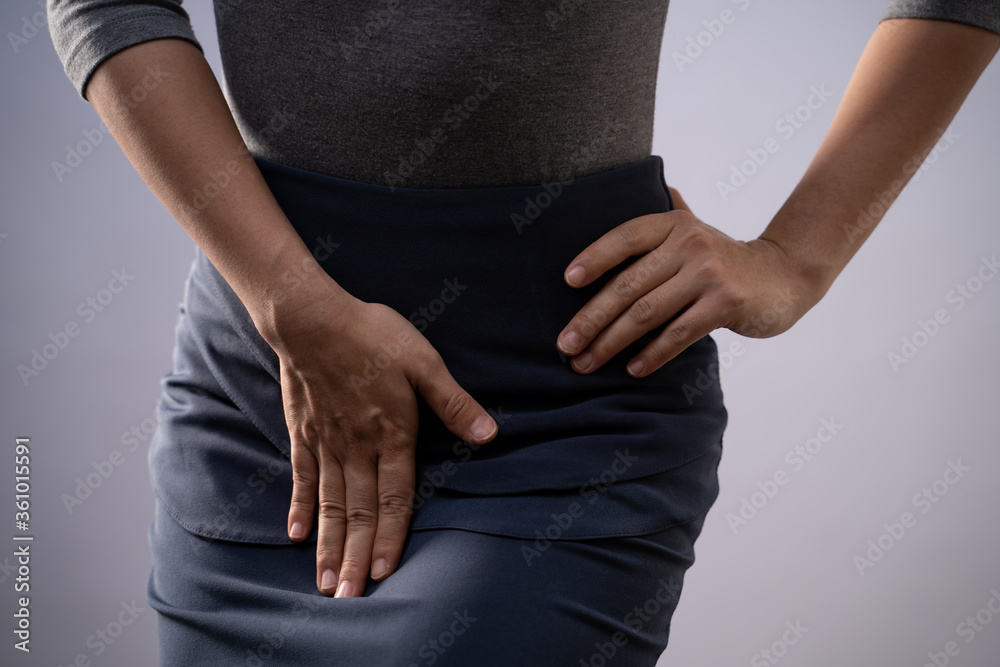
[[[291,437],[289,537],[305,539],[318,508],[316,586],[352,597],[364,592],[369,571],[384,579],[402,555],[413,507],[416,394],[470,443],[492,440],[497,427],[406,318],[317,274],[313,289],[297,291],[310,296],[292,297],[297,303],[285,301],[270,315],[265,338],[280,361]]]

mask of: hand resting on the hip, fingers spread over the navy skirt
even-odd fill
[[[737,241],[705,224],[670,188],[674,210],[633,218],[591,243],[566,268],[571,287],[641,255],[587,302],[559,334],[572,366],[590,373],[646,332],[660,334],[629,360],[642,377],[725,327],[752,338],[787,331],[826,292],[774,242]]]

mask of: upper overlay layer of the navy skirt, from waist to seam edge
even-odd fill
[[[447,431],[418,401],[415,527],[461,523],[497,532],[504,514],[490,516],[489,507],[506,502],[522,508],[523,516],[530,505],[544,517],[548,506],[525,500],[525,494],[537,499],[550,494],[553,507],[564,507],[566,494],[582,495],[595,482],[607,487],[611,474],[618,488],[602,491],[606,511],[590,512],[579,529],[600,533],[595,522],[603,515],[614,517],[616,525],[607,528],[614,534],[623,528],[632,534],[651,531],[671,513],[657,508],[658,517],[637,516],[623,524],[628,514],[623,507],[635,509],[638,496],[630,496],[622,483],[665,481],[664,473],[699,459],[706,462],[699,468],[702,479],[689,480],[697,493],[688,497],[699,498],[695,504],[702,509],[705,499],[714,500],[727,414],[713,373],[718,360],[711,336],[638,379],[626,373],[625,363],[660,329],[589,375],[573,371],[555,347],[558,333],[614,273],[574,289],[562,277],[569,262],[617,225],[671,210],[659,156],[571,181],[468,189],[393,188],[254,159],[322,268],[355,297],[407,317],[459,384],[500,423],[494,441],[476,448]],[[192,342],[185,347],[179,338],[175,375],[198,364],[210,370],[228,400],[287,460],[277,356],[200,250],[185,304],[184,334]],[[164,416],[169,421],[169,414]],[[164,428],[169,431],[169,424]],[[217,466],[219,459],[240,452],[235,442],[214,450],[192,448],[168,465],[167,448],[178,446],[167,436],[156,443],[153,474],[161,498],[179,498],[186,488],[170,465],[190,468],[198,459],[215,457]],[[716,455],[707,457],[713,462],[703,458],[710,453]],[[158,463],[158,455],[166,458]],[[682,487],[670,492],[675,509],[692,510],[693,500],[685,505],[678,498]],[[455,514],[458,505],[448,499],[456,494],[478,498],[468,504],[477,512],[465,518]],[[521,499],[513,502],[518,494]]]

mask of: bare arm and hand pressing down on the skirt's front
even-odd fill
[[[130,92],[149,68],[165,75],[136,103]],[[101,63],[84,94],[277,353],[292,449],[289,536],[305,539],[318,515],[317,588],[361,595],[369,572],[385,578],[402,555],[416,394],[469,442],[493,439],[496,424],[406,318],[359,301],[319,266],[257,169],[197,47],[174,38],[129,46]],[[204,196],[222,173],[228,183]],[[365,360],[396,341],[405,343],[398,363],[363,391],[351,387]]]

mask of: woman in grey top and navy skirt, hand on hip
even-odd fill
[[[815,305],[1000,45],[997,3],[891,3],[740,242],[649,155],[665,2],[218,0],[228,105],[179,3],[103,5],[50,1],[57,51],[199,246],[165,665],[654,664],[717,494],[710,332]]]

